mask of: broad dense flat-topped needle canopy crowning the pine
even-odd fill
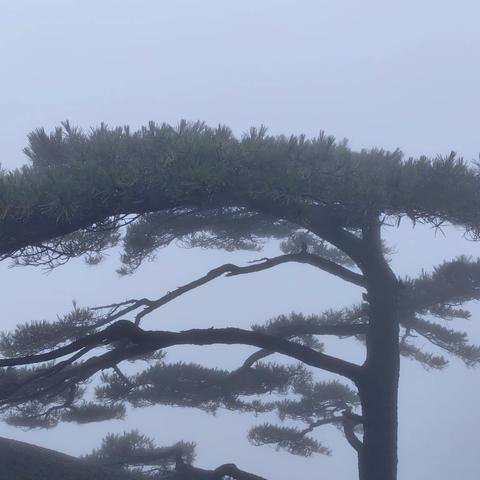
[[[252,128],[236,138],[202,122],[151,122],[135,132],[102,124],[88,133],[66,122],[30,134],[25,153],[30,165],[0,173],[0,253],[20,263],[82,254],[95,263],[121,240],[122,225],[127,273],[177,240],[232,250],[274,237],[288,249],[298,234],[348,261],[312,244],[301,225],[312,207],[352,231],[369,212],[460,225],[474,237],[480,226],[477,170],[455,154],[404,160],[400,151],[355,152],[324,133]]]

